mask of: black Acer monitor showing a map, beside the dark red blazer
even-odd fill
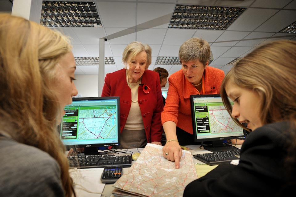
[[[119,97],[73,98],[61,123],[60,139],[69,150],[84,147],[97,155],[98,147],[120,145]]]

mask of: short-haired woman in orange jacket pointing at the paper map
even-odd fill
[[[167,143],[163,155],[175,161],[179,168],[182,150],[180,145],[192,145],[191,94],[219,94],[224,71],[209,66],[211,50],[207,41],[191,38],[179,49],[182,69],[169,77],[166,105],[161,114]],[[180,144],[180,145],[179,145]]]

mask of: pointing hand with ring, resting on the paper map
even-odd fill
[[[171,141],[166,143],[162,148],[162,154],[167,160],[175,161],[176,168],[179,168],[182,149],[178,142]]]

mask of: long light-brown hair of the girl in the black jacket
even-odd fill
[[[220,89],[223,103],[231,114],[232,105],[225,87],[228,83],[253,90],[261,99],[260,120],[263,125],[289,121],[291,143],[286,164],[296,163],[296,42],[278,40],[265,43],[246,55],[226,74]],[[234,119],[241,127],[243,125]],[[293,164],[294,163],[294,164]]]

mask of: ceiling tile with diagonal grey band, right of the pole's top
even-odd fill
[[[105,28],[107,39],[111,44],[130,44],[136,40],[136,29]],[[112,39],[111,39],[112,38]]]

